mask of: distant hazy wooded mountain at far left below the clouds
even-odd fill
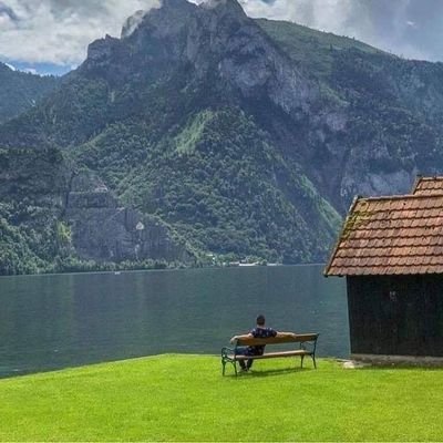
[[[59,83],[54,76],[13,71],[0,62],[0,123],[12,119],[48,95]]]

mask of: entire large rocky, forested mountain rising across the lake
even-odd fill
[[[442,74],[236,0],[164,0],[0,126],[0,268],[322,261],[356,194],[442,167]]]

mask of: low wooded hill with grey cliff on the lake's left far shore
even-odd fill
[[[195,260],[164,223],[120,204],[95,174],[73,172],[56,148],[0,150],[0,275],[83,269],[65,268],[70,257]]]

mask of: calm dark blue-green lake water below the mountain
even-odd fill
[[[0,278],[0,377],[157,353],[218,354],[257,313],[349,354],[343,279],[322,266]]]

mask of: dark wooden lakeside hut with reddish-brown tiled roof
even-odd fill
[[[352,358],[443,362],[443,177],[356,198],[324,275],[347,278]]]

